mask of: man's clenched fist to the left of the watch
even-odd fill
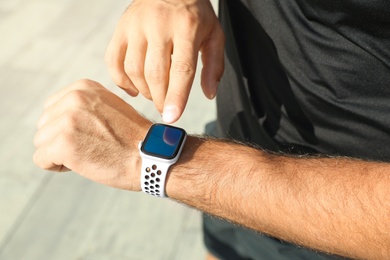
[[[34,162],[112,187],[140,190],[138,143],[151,122],[97,82],[80,80],[45,105]]]

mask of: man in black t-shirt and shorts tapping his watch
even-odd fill
[[[205,217],[214,257],[390,256],[390,164],[380,162],[390,160],[389,10],[385,0],[221,1],[216,134],[241,143],[189,136],[165,193],[269,236]],[[224,41],[208,0],[136,0],[107,62],[120,87],[152,99],[172,123],[198,51],[202,88],[215,96]],[[48,100],[34,160],[139,191],[137,146],[150,125],[98,83],[79,81]]]

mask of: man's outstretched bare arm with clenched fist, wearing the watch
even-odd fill
[[[95,182],[140,191],[137,146],[150,125],[99,83],[81,80],[47,101],[34,161],[43,169],[72,170]],[[189,136],[170,168],[166,193],[298,245],[385,259],[390,255],[389,172],[388,163],[291,157]]]

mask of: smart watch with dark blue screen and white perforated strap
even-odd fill
[[[169,167],[180,157],[186,132],[178,127],[154,124],[139,143],[142,158],[141,188],[156,197],[166,197],[165,180]]]

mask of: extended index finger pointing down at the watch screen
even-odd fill
[[[194,43],[180,40],[173,46],[163,121],[173,123],[182,115],[195,77],[198,50]]]

